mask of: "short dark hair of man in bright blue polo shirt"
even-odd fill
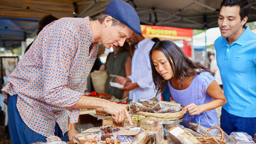
[[[240,7],[239,15],[241,17],[241,21],[246,16],[248,18],[250,9],[251,9],[251,6],[249,5],[247,0],[223,0],[221,3],[221,8],[222,6],[239,6]],[[243,25],[243,28],[245,28],[245,24]]]

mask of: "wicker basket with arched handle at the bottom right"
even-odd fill
[[[219,131],[221,132],[220,140],[212,136],[207,137],[208,132],[212,129],[219,129]],[[203,144],[227,144],[227,142],[224,142],[224,132],[220,127],[211,127],[205,132],[205,134],[202,137],[196,136],[196,138]]]

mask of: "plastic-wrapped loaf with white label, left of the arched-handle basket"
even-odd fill
[[[185,131],[178,126],[168,129],[167,139],[174,144],[202,144],[190,132]]]

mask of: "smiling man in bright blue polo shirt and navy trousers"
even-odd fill
[[[245,25],[251,6],[246,0],[223,0],[215,43],[216,58],[227,104],[221,128],[230,134],[256,133],[256,34]]]

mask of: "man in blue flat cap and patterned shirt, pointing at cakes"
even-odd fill
[[[44,27],[2,89],[12,143],[46,142],[51,135],[68,141],[68,120],[76,123],[80,109],[100,108],[132,124],[124,106],[84,91],[98,42],[123,46],[133,32],[141,34],[139,17],[122,0],[111,1],[97,20],[60,18]]]

